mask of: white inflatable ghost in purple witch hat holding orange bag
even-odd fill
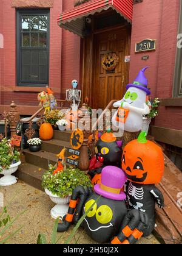
[[[147,88],[148,80],[144,75],[148,67],[141,69],[133,84],[127,85],[126,94],[121,101],[115,102],[114,107],[119,107],[112,118],[112,124],[127,132],[138,132],[142,128],[143,115],[150,112],[146,104],[146,96],[150,95]]]

